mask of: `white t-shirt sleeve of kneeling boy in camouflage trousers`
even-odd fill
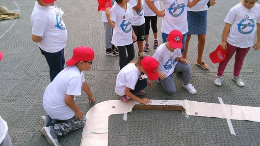
[[[68,90],[67,90],[66,94],[80,96],[81,89],[82,89],[82,78],[73,77],[69,80]]]

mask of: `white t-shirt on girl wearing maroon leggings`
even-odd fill
[[[249,11],[242,4],[231,8],[224,22],[232,24],[227,36],[230,45],[247,48],[253,45],[256,23],[260,23],[260,5],[255,4]]]

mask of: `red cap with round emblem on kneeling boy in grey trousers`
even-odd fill
[[[169,40],[170,47],[178,49],[183,48],[183,34],[181,34],[180,31],[171,31],[167,38]]]

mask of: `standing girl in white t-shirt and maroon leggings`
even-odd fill
[[[222,84],[222,75],[229,60],[236,52],[232,79],[239,86],[245,83],[240,77],[243,62],[250,47],[254,50],[260,48],[260,5],[257,0],[242,0],[240,4],[231,8],[224,22],[226,22],[222,33],[220,46],[223,50],[227,48],[226,60],[219,63],[216,85]],[[255,31],[257,40],[253,45]]]

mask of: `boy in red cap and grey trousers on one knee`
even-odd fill
[[[183,48],[183,34],[173,30],[166,38],[166,43],[161,44],[153,57],[159,62],[159,82],[168,94],[174,94],[176,87],[173,73],[183,72],[183,87],[191,94],[196,94],[194,86],[190,84],[191,67],[186,59],[181,58],[180,49]]]

